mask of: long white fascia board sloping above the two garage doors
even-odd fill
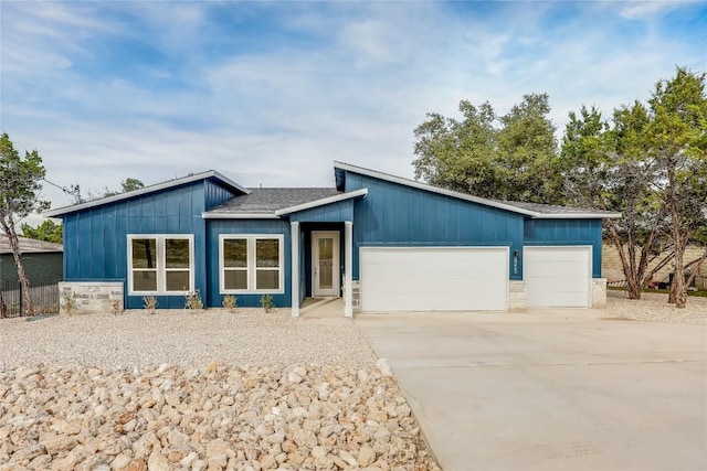
[[[365,169],[362,167],[351,165],[350,163],[334,162],[335,169],[348,170],[354,173],[360,173],[362,175],[372,176],[374,179],[384,180],[391,183],[398,183],[405,186],[411,186],[418,190],[424,190],[432,193],[443,194],[445,196],[452,196],[458,200],[471,201],[472,203],[483,204],[485,206],[497,207],[499,210],[510,211],[511,213],[518,213],[532,218],[539,220],[615,220],[620,218],[621,213],[558,213],[546,214],[538,213],[537,211],[525,210],[523,207],[505,204],[500,201],[486,200],[485,197],[472,196],[471,194],[460,193],[457,191],[446,190],[439,186],[429,185],[414,180],[403,179],[401,176],[391,175],[376,170]]]

